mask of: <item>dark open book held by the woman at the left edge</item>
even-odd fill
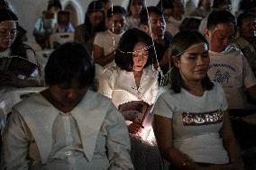
[[[13,72],[17,76],[27,78],[31,76],[38,67],[37,64],[32,63],[28,59],[18,56],[0,58],[0,72],[2,73]]]

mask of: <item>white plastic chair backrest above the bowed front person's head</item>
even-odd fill
[[[50,35],[50,49],[74,40],[74,32],[56,32]]]

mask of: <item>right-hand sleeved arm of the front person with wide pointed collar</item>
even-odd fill
[[[131,143],[123,115],[112,104],[106,113],[107,127],[106,148],[109,170],[132,170],[130,157]]]

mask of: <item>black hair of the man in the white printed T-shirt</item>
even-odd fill
[[[236,26],[235,18],[232,13],[227,11],[213,11],[208,15],[206,28],[210,31],[213,31],[215,30],[217,24],[230,22]]]

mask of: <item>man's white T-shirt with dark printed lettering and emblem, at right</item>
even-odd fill
[[[228,47],[221,53],[209,51],[208,76],[223,85],[229,109],[245,109],[244,91],[256,85],[256,79],[247,59],[239,49]],[[235,96],[235,97],[234,97]]]

